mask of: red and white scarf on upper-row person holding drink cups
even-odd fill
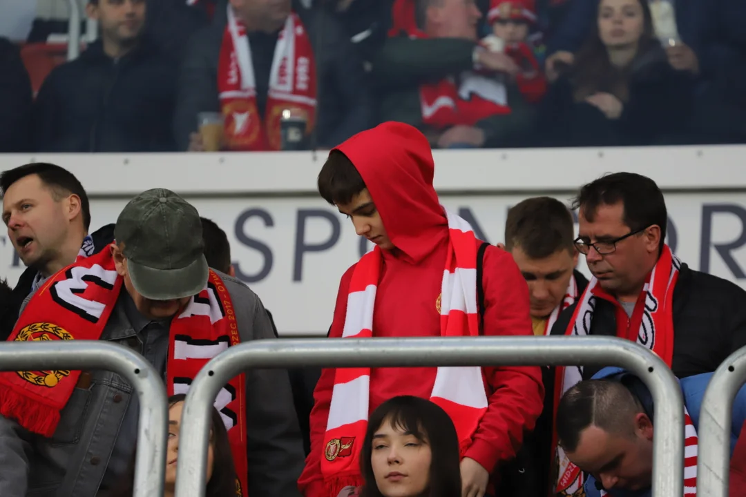
[[[218,93],[228,148],[280,150],[280,118],[286,109],[300,110],[306,116],[309,134],[316,120],[316,62],[297,14],[288,16],[275,46],[264,118],[257,107],[256,77],[246,28],[229,4],[218,61]]]

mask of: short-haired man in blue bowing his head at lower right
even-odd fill
[[[702,399],[712,373],[680,381],[684,397],[684,496],[697,494],[698,426]],[[730,450],[746,421],[746,387],[733,403]],[[557,436],[568,458],[589,473],[586,497],[651,497],[653,476],[653,396],[637,376],[606,367],[591,380],[565,392],[557,407]],[[736,463],[736,471],[745,466]],[[746,486],[733,477],[730,496],[746,495]],[[602,493],[601,491],[604,491]]]

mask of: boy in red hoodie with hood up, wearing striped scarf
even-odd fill
[[[498,247],[483,253],[480,320],[475,268],[483,242],[440,205],[434,169],[424,135],[395,122],[329,154],[319,192],[376,245],[342,276],[330,337],[532,335],[526,282]],[[299,487],[305,497],[337,497],[363,484],[358,455],[369,413],[414,395],[451,416],[463,496],[482,497],[497,463],[513,458],[533,428],[543,393],[539,367],[327,368],[314,393]]]

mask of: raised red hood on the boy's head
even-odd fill
[[[336,150],[360,172],[389,239],[410,262],[420,262],[448,237],[448,220],[433,188],[433,153],[419,130],[386,122]]]

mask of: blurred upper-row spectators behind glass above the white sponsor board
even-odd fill
[[[45,44],[67,31],[49,13],[0,42],[0,151],[328,150],[383,121],[436,148],[746,139],[740,0],[90,0],[86,13],[98,37],[75,60]]]

